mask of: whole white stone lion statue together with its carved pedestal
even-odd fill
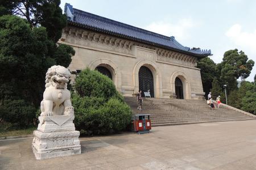
[[[69,76],[69,70],[63,66],[52,66],[46,73],[40,123],[32,142],[36,159],[81,154],[80,132],[73,124],[74,109],[67,90]]]

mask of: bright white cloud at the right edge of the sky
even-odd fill
[[[242,49],[249,49],[256,52],[256,29],[253,32],[242,31],[240,24],[234,24],[225,34],[234,44],[241,46]]]

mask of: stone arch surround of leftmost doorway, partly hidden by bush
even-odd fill
[[[99,58],[90,62],[89,64],[89,68],[92,70],[95,70],[97,67],[105,67],[106,69],[108,69],[112,75],[112,80],[115,84],[115,88],[117,88],[118,91],[121,91],[121,74],[117,65],[115,65],[115,63],[108,58]]]

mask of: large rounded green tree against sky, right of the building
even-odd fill
[[[248,60],[246,54],[237,49],[224,53],[222,62],[217,65],[217,73],[220,74],[222,84],[227,84],[227,92],[237,89],[237,79],[247,78],[253,69],[254,61]]]

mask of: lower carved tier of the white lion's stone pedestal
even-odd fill
[[[32,149],[36,159],[81,154],[79,131],[34,131]]]

